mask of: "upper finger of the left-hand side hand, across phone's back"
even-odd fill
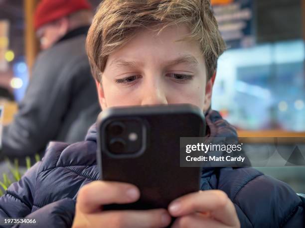
[[[100,211],[102,205],[132,203],[139,197],[139,189],[132,184],[93,181],[80,189],[76,207],[83,213],[93,213]]]

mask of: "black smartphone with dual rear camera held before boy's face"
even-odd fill
[[[100,178],[136,185],[140,199],[104,210],[167,208],[199,190],[200,167],[180,167],[180,137],[204,137],[202,110],[189,104],[108,108],[97,121]]]

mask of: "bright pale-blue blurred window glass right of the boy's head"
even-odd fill
[[[212,108],[247,130],[305,130],[304,41],[226,51],[218,61]]]

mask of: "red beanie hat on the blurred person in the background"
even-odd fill
[[[91,9],[87,0],[41,0],[35,10],[34,28],[82,9]]]

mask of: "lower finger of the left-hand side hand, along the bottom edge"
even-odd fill
[[[87,221],[108,228],[161,228],[170,224],[171,217],[165,209],[104,211],[87,215]]]

